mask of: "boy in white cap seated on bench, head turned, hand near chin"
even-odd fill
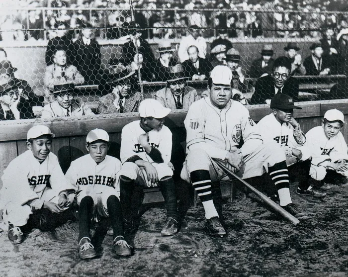
[[[159,186],[167,208],[165,236],[177,232],[176,195],[173,181],[172,132],[163,123],[170,113],[155,99],[145,99],[139,105],[140,120],[122,129],[120,177],[121,205],[124,222],[132,227],[131,197],[134,185]],[[126,227],[125,227],[126,228]]]

